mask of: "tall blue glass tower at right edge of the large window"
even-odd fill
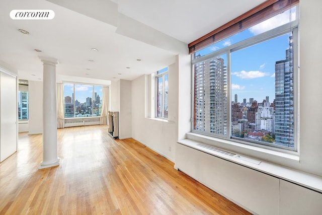
[[[286,59],[275,63],[275,143],[294,147],[293,36],[289,37]]]

